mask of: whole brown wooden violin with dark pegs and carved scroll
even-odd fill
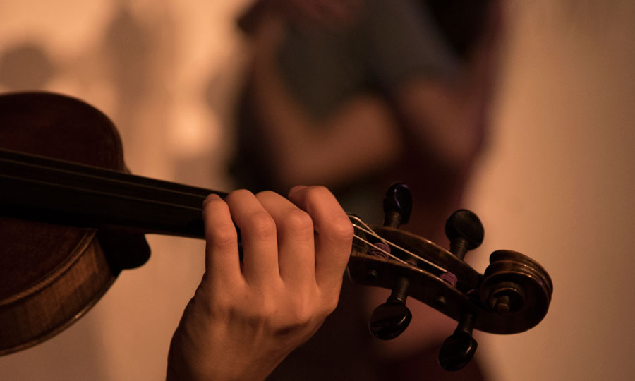
[[[226,193],[129,174],[113,123],[78,99],[46,92],[0,96],[0,356],[38,344],[97,303],[121,270],[150,257],[144,234],[203,238],[202,201]],[[407,186],[384,200],[383,226],[349,214],[347,273],[392,290],[370,316],[378,339],[409,325],[408,297],[458,322],[440,349],[447,370],[476,351],[473,329],[524,332],[545,317],[553,284],[538,262],[497,250],[480,274],[463,258],[483,241],[476,214],[447,220],[450,248],[399,229]]]

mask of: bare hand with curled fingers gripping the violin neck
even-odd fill
[[[337,306],[353,228],[323,187],[203,204],[205,275],[172,338],[168,380],[263,380]],[[243,261],[238,259],[236,226]]]

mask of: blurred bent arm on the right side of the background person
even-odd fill
[[[483,33],[468,62],[453,76],[412,75],[394,89],[397,113],[425,158],[449,171],[465,171],[480,151],[498,71],[502,9],[493,0]]]

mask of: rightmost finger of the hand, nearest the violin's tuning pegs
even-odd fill
[[[353,226],[349,217],[334,195],[321,186],[291,188],[289,200],[313,219],[317,285],[339,292],[353,241]]]

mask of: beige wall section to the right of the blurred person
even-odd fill
[[[532,256],[555,291],[540,326],[482,348],[502,380],[632,380],[635,4],[543,3],[511,7],[497,133],[471,202],[487,249]]]

